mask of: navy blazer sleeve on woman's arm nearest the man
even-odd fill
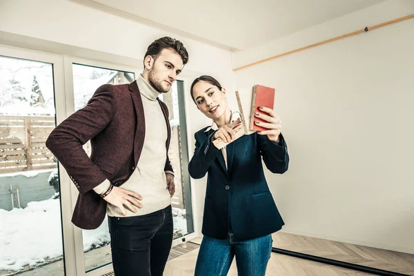
[[[195,134],[194,155],[188,164],[188,172],[194,179],[199,179],[206,175],[208,168],[210,168],[210,165],[217,157],[217,152],[220,151],[213,143],[211,143],[211,137],[213,137],[214,134],[215,132],[211,133],[204,140],[201,138],[201,135],[204,137],[206,136],[204,132],[200,135],[197,135],[197,133]]]

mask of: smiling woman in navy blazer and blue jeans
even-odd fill
[[[268,170],[284,173],[289,157],[280,134],[281,121],[275,112],[262,107],[267,115],[255,113],[268,128],[235,138],[238,112],[228,108],[226,90],[210,76],[193,82],[191,95],[197,108],[213,125],[195,133],[195,153],[188,165],[191,177],[208,172],[204,203],[203,241],[195,275],[227,275],[236,257],[239,275],[262,276],[272,250],[271,233],[284,225],[264,177],[262,158]],[[221,138],[231,142],[219,150],[212,143]]]

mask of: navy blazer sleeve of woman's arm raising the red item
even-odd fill
[[[273,173],[284,173],[288,170],[289,155],[288,146],[282,134],[279,143],[270,141],[266,135],[257,135],[260,154],[266,168]]]

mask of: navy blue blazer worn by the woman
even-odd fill
[[[289,155],[282,135],[278,144],[266,135],[244,135],[227,145],[228,169],[221,150],[211,143],[215,130],[195,133],[195,152],[188,164],[190,176],[208,172],[202,233],[226,239],[230,229],[241,240],[275,233],[284,225],[264,177],[268,170],[284,173]]]

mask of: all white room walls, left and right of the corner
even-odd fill
[[[386,1],[237,52],[233,66],[413,12],[414,1]],[[261,83],[277,90],[275,109],[291,163],[286,175],[267,176],[284,230],[414,253],[413,30],[409,19],[237,71],[239,87]],[[235,90],[226,49],[72,1],[0,1],[0,43],[133,66],[149,43],[164,35],[183,41],[190,53],[183,71],[187,92],[200,74]],[[186,113],[192,155],[193,133],[207,121],[188,93]],[[198,226],[205,183],[193,181]]]

